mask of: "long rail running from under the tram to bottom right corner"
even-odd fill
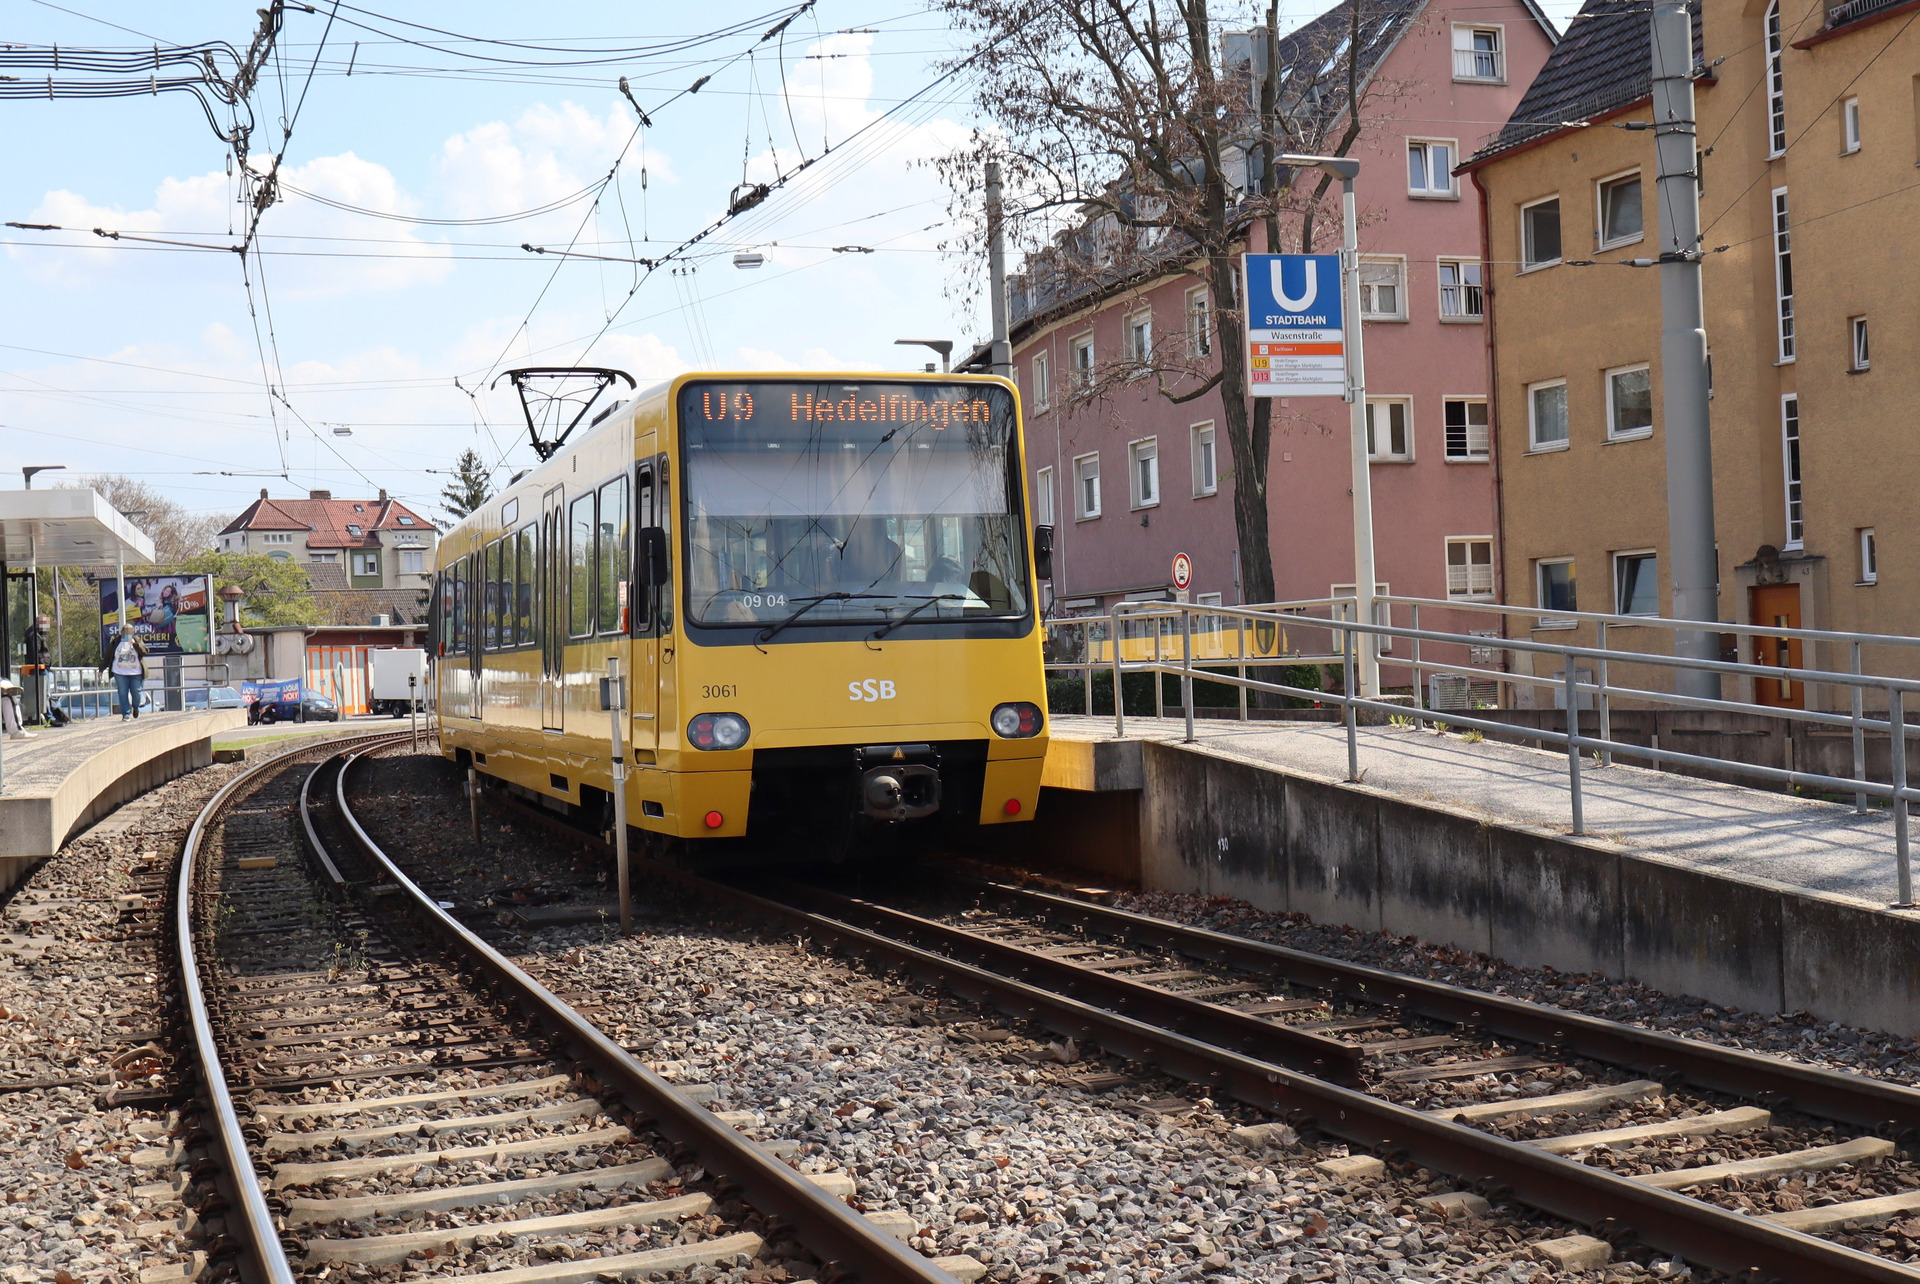
[[[1096,1044],[1177,1079],[1208,1084],[1212,1092],[1229,1094],[1258,1109],[1311,1123],[1386,1159],[1452,1173],[1490,1198],[1515,1200],[1590,1226],[1615,1244],[1638,1240],[1747,1282],[1778,1278],[1822,1284],[1895,1280],[1914,1284],[1920,1280],[1920,1271],[1884,1257],[1217,1048],[685,869],[651,860],[641,864],[660,881],[678,883],[710,902],[730,902],[762,919],[801,927],[818,940],[941,985],[1010,1017]]]

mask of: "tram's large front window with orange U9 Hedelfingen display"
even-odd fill
[[[1006,390],[687,384],[680,432],[693,624],[910,631],[1027,614]]]

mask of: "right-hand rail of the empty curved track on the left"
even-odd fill
[[[492,977],[499,990],[551,1031],[574,1059],[591,1065],[601,1081],[618,1092],[636,1113],[651,1119],[653,1127],[670,1140],[693,1150],[708,1173],[737,1186],[753,1207],[776,1219],[776,1225],[783,1223],[791,1228],[793,1236],[824,1263],[822,1278],[831,1278],[839,1269],[872,1284],[893,1284],[895,1280],[902,1284],[956,1284],[952,1274],[876,1228],[758,1142],[716,1119],[712,1111],[687,1100],[674,1084],[636,1061],[626,1048],[607,1038],[599,1027],[586,1021],[553,990],[442,910],[372,841],[346,804],[346,775],[359,756],[351,754],[340,766],[338,785],[340,820],[353,839],[380,866],[382,873],[413,900],[442,940],[467,963]]]

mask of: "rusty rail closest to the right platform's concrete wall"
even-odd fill
[[[954,873],[941,877],[975,891],[991,891],[1044,914],[1050,921],[1068,921],[1188,958],[1281,977],[1292,985],[1331,990],[1342,998],[1390,1004],[1430,1021],[1446,1021],[1553,1048],[1561,1054],[1584,1056],[1622,1069],[1644,1071],[1668,1082],[1684,1081],[1695,1088],[1743,1096],[1774,1107],[1791,1106],[1820,1119],[1874,1129],[1893,1140],[1908,1144],[1920,1140],[1920,1090],[1903,1084],[1799,1065],[1743,1048],[1724,1048],[1645,1031],[1605,1017],[1590,1017],[1486,990],[1469,990],[1444,981],[1407,977],[1365,963],[1348,963],[1206,927],[1169,923],[1071,896]]]

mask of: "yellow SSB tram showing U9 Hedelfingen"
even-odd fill
[[[1031,820],[1046,754],[1020,407],[987,376],[684,374],[440,541],[449,758],[662,839]],[[1037,566],[1039,559],[1039,566]]]

